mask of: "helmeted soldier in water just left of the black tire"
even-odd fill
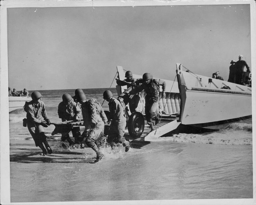
[[[111,145],[112,149],[114,149],[116,144],[121,143],[125,147],[125,152],[127,152],[130,149],[130,142],[124,138],[126,118],[124,117],[123,107],[120,101],[113,97],[110,90],[104,91],[103,98],[108,101],[110,118],[112,119],[107,142]]]

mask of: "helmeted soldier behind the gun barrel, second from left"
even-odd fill
[[[58,106],[58,115],[61,120],[69,121],[74,120],[77,121],[78,118],[81,115],[81,110],[77,106],[77,104],[73,101],[73,98],[69,94],[63,94],[62,96],[62,102],[59,103]],[[70,139],[69,132],[72,131],[72,135],[75,139],[75,143]],[[72,146],[74,144],[80,144],[79,137],[81,136],[80,128],[79,127],[73,127],[72,129],[66,133],[61,133],[61,141],[64,142],[67,140],[69,142],[69,145]]]

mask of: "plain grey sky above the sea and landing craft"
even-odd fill
[[[176,63],[224,80],[240,54],[251,67],[249,4],[9,8],[7,19],[17,90],[108,88],[116,66],[168,80]]]

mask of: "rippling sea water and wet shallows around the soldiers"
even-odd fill
[[[103,102],[105,89],[83,90],[88,99]],[[60,122],[61,96],[73,96],[74,90],[40,92],[51,122]],[[103,108],[108,110],[106,101]],[[253,197],[252,120],[216,132],[131,142],[127,153],[123,147],[103,148],[105,157],[93,163],[96,154],[91,148],[61,148],[60,134],[51,136],[54,125],[45,128],[53,154],[39,155],[22,126],[25,117],[23,109],[9,114],[11,202]]]

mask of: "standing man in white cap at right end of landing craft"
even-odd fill
[[[242,60],[243,55],[238,56],[238,61],[236,62],[236,69],[237,69],[237,79],[236,79],[236,84],[243,85],[246,72],[250,73],[250,67],[247,65],[247,63]]]

